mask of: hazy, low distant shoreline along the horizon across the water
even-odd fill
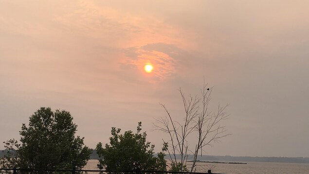
[[[0,151],[0,157],[6,153],[6,150]],[[169,159],[165,156],[166,159]],[[180,155],[177,155],[180,158]],[[93,150],[90,159],[99,159],[99,156]],[[192,160],[190,156],[188,161]],[[309,163],[309,157],[259,157],[259,156],[214,156],[214,155],[202,155],[198,157],[198,160],[203,161],[217,161],[223,163],[237,163],[239,162],[282,162],[282,163]],[[233,162],[231,162],[233,161]]]

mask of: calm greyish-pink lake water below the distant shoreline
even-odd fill
[[[95,159],[89,160],[85,166],[85,170],[97,170],[98,161]],[[202,166],[208,164],[213,173],[222,174],[309,174],[309,164],[296,164],[296,163],[268,163],[268,162],[247,162],[247,164],[209,164],[198,163]],[[91,173],[89,173],[91,174]],[[94,174],[94,173],[92,173]]]

